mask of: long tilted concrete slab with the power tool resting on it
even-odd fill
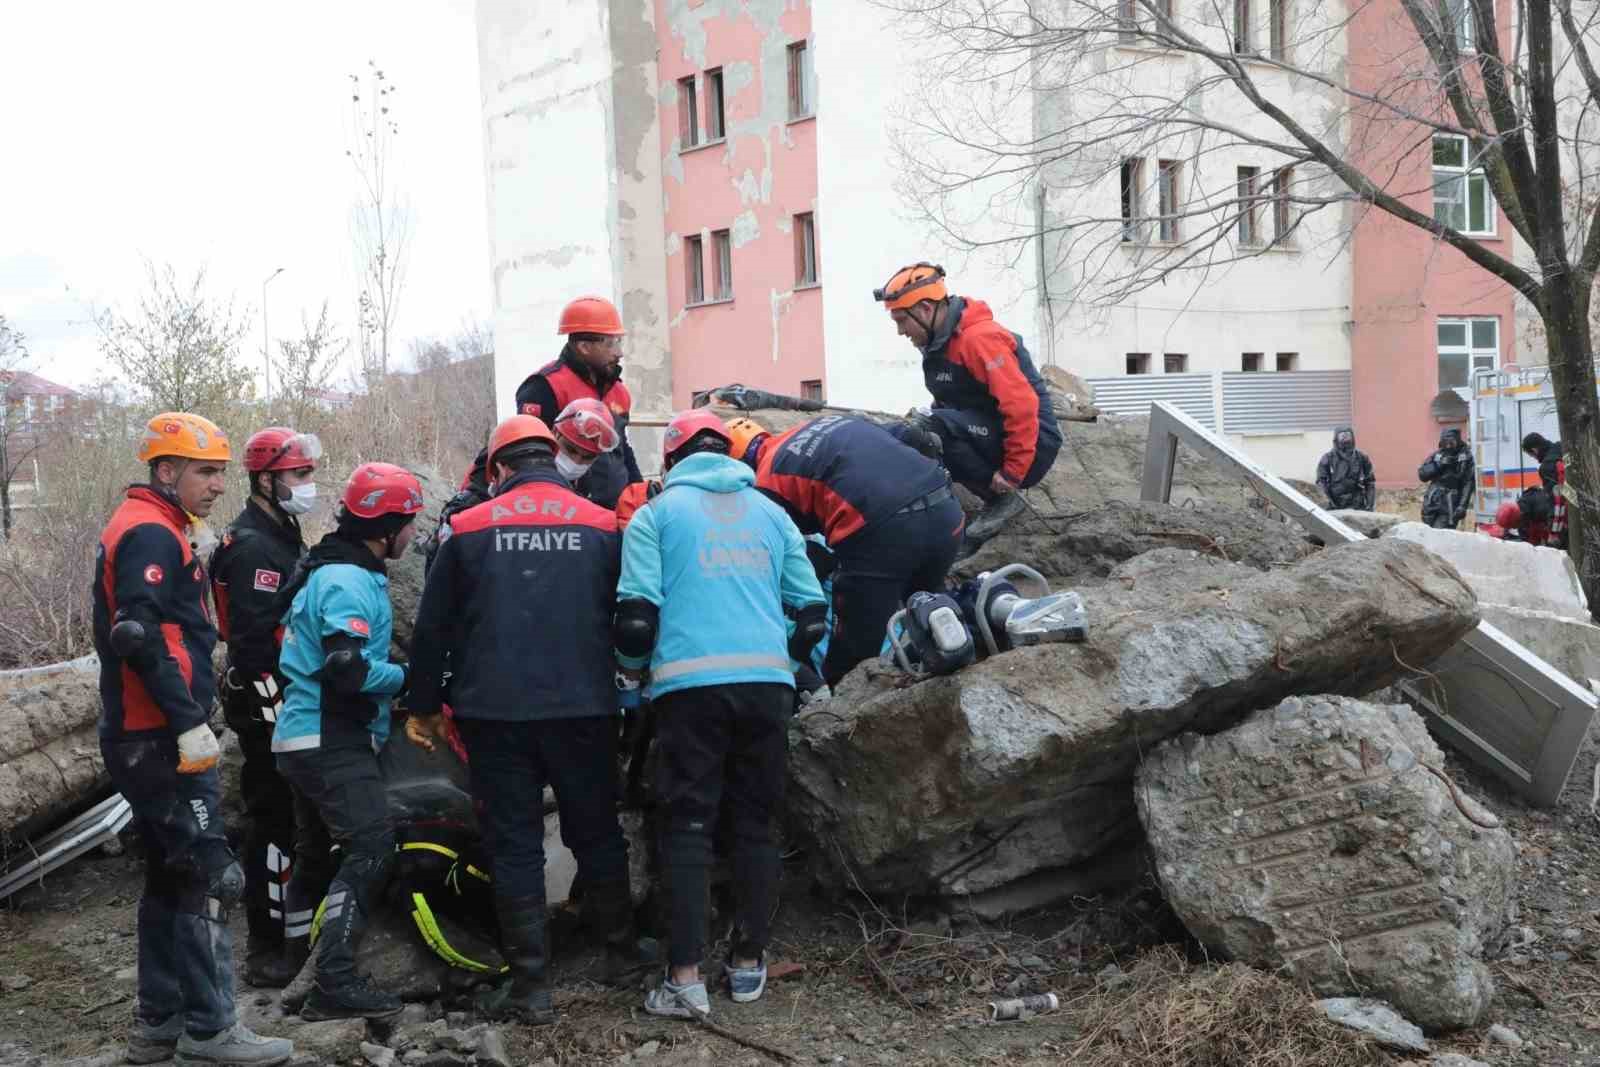
[[[1368,693],[1477,624],[1461,577],[1403,541],[1328,549],[907,683],[869,661],[790,726],[790,833],[824,885],[982,893],[1136,825],[1142,753],[1294,693]],[[1398,656],[1398,659],[1397,659]]]

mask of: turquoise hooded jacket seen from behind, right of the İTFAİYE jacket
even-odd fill
[[[661,611],[650,656],[654,697],[741,681],[794,686],[784,608],[821,603],[822,587],[794,520],[754,486],[742,462],[699,453],[669,470],[627,525],[616,597]]]

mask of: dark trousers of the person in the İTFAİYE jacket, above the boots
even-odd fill
[[[544,899],[544,806],[549,785],[562,845],[584,893],[627,885],[627,841],[616,821],[616,718],[501,721],[456,717],[472,771],[472,800],[490,849],[494,896]]]

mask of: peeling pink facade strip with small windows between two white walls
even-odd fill
[[[672,403],[821,398],[811,5],[654,3]]]

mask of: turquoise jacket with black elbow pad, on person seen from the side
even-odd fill
[[[392,632],[386,574],[357,563],[326,563],[312,569],[283,616],[278,670],[288,678],[288,689],[272,731],[272,750],[381,749],[389,739],[389,699],[405,683],[405,669],[389,662]],[[323,638],[339,633],[365,641],[366,683],[354,701],[333,693],[325,701],[322,683],[312,677],[325,659]]]

